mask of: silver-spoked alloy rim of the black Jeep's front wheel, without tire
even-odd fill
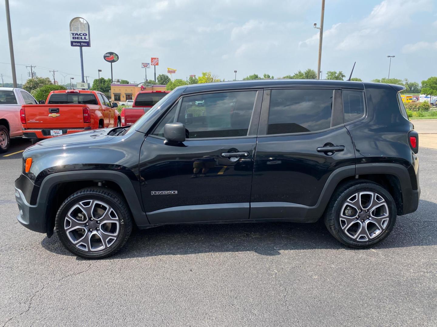
[[[78,249],[97,252],[109,248],[117,240],[120,221],[108,204],[84,200],[68,211],[64,229],[70,242]]]

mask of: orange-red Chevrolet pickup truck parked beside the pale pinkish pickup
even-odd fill
[[[97,91],[52,91],[45,104],[21,106],[23,135],[35,144],[53,136],[121,126],[117,106]]]

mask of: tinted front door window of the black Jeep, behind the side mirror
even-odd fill
[[[218,92],[184,97],[177,122],[190,139],[246,136],[257,91]]]

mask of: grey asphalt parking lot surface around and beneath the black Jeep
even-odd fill
[[[179,225],[90,261],[17,222],[21,153],[2,155],[0,326],[436,326],[437,149],[419,156],[419,209],[372,249],[321,223]]]

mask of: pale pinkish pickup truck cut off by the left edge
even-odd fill
[[[38,101],[23,89],[0,87],[0,153],[9,149],[11,137],[23,135],[20,109],[27,104]]]

